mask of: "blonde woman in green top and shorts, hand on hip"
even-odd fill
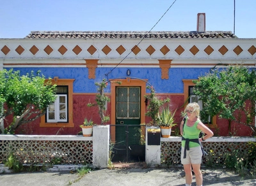
[[[198,103],[189,103],[186,106],[185,112],[186,117],[180,124],[180,134],[182,135],[181,163],[186,173],[186,186],[192,183],[193,175],[191,166],[196,176],[196,185],[202,185],[203,177],[200,171],[202,149],[200,142],[211,138],[213,132],[200,121],[200,106]],[[198,138],[201,131],[206,136]]]

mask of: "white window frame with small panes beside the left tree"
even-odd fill
[[[54,119],[49,119],[49,107],[47,108],[47,121],[46,122],[67,122],[67,110],[68,110],[68,104],[67,104],[67,94],[56,94],[56,101],[49,105],[49,107],[54,107]],[[60,103],[60,97],[65,97],[65,103]],[[65,104],[65,111],[60,111],[60,105]],[[62,119],[60,118],[60,113],[65,113],[66,118]]]

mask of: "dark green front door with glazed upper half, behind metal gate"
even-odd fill
[[[116,122],[113,161],[145,161],[141,143],[141,88],[116,87]],[[143,131],[143,132],[141,132]]]

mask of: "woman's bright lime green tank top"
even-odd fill
[[[192,127],[189,127],[187,125],[188,119],[184,122],[183,127],[183,138],[185,139],[198,139],[199,133],[201,132],[199,129],[197,129],[197,125],[200,122],[200,120],[197,120],[195,124]],[[185,141],[181,141],[182,147],[185,147]],[[189,148],[198,147],[200,146],[198,143],[195,143],[193,141],[189,141]]]

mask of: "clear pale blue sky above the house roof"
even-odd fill
[[[255,7],[255,0],[236,0],[239,38],[256,38]],[[152,31],[196,31],[197,13],[205,13],[206,31],[234,32],[234,0],[0,0],[0,38],[31,31],[150,31],[166,10]]]

